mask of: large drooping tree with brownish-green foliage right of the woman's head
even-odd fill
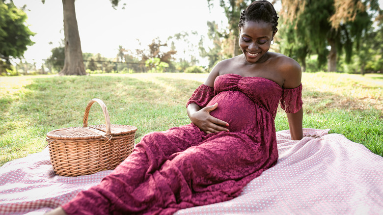
[[[328,71],[336,71],[339,54],[345,51],[350,62],[353,44],[359,47],[360,38],[371,27],[373,13],[381,10],[378,0],[281,0],[280,15],[287,28],[309,40],[300,40],[309,52],[318,54],[319,64],[328,54]],[[368,9],[367,9],[368,8]],[[326,47],[330,50],[326,50]],[[356,49],[358,50],[358,49]]]

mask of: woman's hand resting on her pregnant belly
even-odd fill
[[[216,117],[210,115],[210,112],[215,110],[218,107],[218,103],[202,108],[198,111],[194,111],[189,114],[190,120],[192,123],[204,131],[206,134],[216,133],[216,132],[229,132],[225,126],[229,124],[224,122]]]

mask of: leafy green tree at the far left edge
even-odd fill
[[[22,57],[34,42],[30,36],[35,33],[26,26],[27,14],[18,9],[12,1],[0,0],[0,75],[10,67],[10,57]]]

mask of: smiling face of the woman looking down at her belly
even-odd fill
[[[249,63],[262,61],[275,33],[270,23],[246,21],[241,28],[239,46]]]

